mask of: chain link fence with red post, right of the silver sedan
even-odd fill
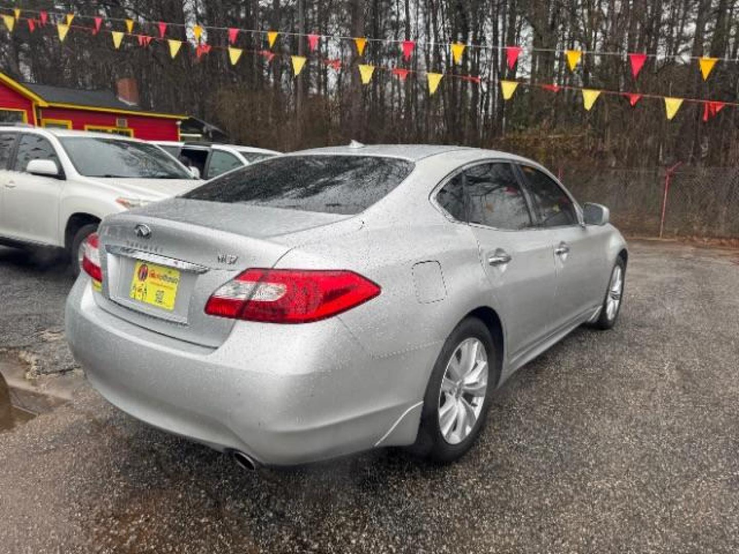
[[[739,168],[563,169],[579,202],[610,208],[631,236],[739,239]]]

